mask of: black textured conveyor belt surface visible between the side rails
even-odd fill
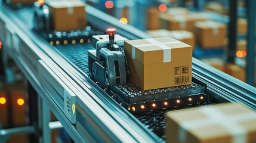
[[[79,69],[84,71],[84,73],[88,74],[88,50],[94,49],[91,43],[78,43],[75,45],[67,44],[67,45],[55,45],[66,58],[72,61]],[[209,105],[212,102],[207,102],[203,105]],[[200,106],[200,105],[197,105]],[[184,107],[189,108],[189,107]],[[174,109],[172,109],[174,110]],[[149,111],[146,113],[135,114],[138,120],[146,128],[152,130],[159,138],[165,140],[164,129],[165,129],[165,115],[169,110],[158,110],[158,111]]]

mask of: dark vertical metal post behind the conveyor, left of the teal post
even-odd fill
[[[237,27],[237,8],[238,0],[229,0],[229,54],[227,61],[229,63],[235,63],[236,53],[236,27]]]

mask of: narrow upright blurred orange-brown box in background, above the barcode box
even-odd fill
[[[159,29],[159,10],[158,8],[149,8],[147,10],[147,30]]]

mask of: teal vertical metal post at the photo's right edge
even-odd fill
[[[246,83],[254,86],[255,79],[255,10],[256,1],[248,0],[247,21],[247,57],[246,57]]]

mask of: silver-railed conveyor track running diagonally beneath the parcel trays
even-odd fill
[[[88,7],[90,9],[90,6]],[[3,12],[4,10],[5,12]],[[93,8],[91,8],[91,10],[95,11]],[[14,17],[14,19],[18,18],[14,24],[10,23],[11,20],[14,19],[7,20],[8,15],[4,15],[6,11],[11,11],[9,14],[10,17]],[[20,47],[20,49],[27,50],[30,54],[20,51],[19,49],[18,54],[13,54],[11,57],[16,59],[16,62],[21,67],[26,77],[32,83],[34,88],[37,89],[36,91],[39,92],[42,99],[48,105],[50,105],[50,109],[53,110],[55,116],[57,116],[58,120],[60,120],[74,141],[164,141],[165,135],[163,130],[165,128],[165,113],[169,110],[149,111],[147,113],[139,113],[134,115],[129,113],[127,110],[121,107],[118,102],[107,95],[103,89],[98,87],[96,83],[92,82],[92,80],[88,78],[87,52],[88,50],[93,49],[91,43],[86,41],[85,43],[68,43],[66,45],[60,44],[51,46],[48,42],[44,41],[44,39],[40,39],[40,37],[32,31],[32,23],[27,22],[27,20],[32,22],[32,14],[29,14],[31,11],[32,8],[29,7],[13,10],[12,8],[8,8],[6,5],[4,7],[1,5],[0,18],[2,21],[4,21],[4,23],[10,24],[11,27],[17,26],[17,23],[19,22],[23,22],[21,26],[26,25],[26,29],[19,32],[16,32],[16,29],[20,28],[19,26],[13,28],[15,31],[14,33],[16,33],[20,39],[20,34],[23,33],[24,35],[24,31],[26,30],[29,30],[26,32],[30,33],[30,35],[27,35],[28,37],[31,35],[35,36],[34,38],[30,39],[30,41],[21,42],[21,46],[23,44],[24,47]],[[91,13],[93,13],[93,11]],[[108,21],[105,21],[102,17],[97,17],[98,19],[92,18],[95,17],[95,15],[91,13],[89,13],[88,10],[88,20],[90,21],[91,25],[94,25],[94,28],[98,29],[99,31],[106,28],[104,26],[97,26],[97,24],[94,23],[97,23],[98,19],[101,19],[102,23],[108,23]],[[115,22],[115,19],[113,21]],[[130,27],[119,26],[118,24],[115,25],[115,23],[108,23],[106,26],[111,24],[121,29],[119,30],[121,35],[127,36],[129,39],[136,38],[136,36],[132,35],[131,33],[127,34],[127,29]],[[137,36],[139,38],[147,37],[147,35],[144,35],[143,33]],[[0,36],[0,38],[2,40],[3,36]],[[21,39],[21,41],[23,39]],[[27,42],[31,43],[27,44]],[[30,49],[30,45],[36,46],[34,48],[37,49]],[[15,50],[16,49],[13,49],[13,51]],[[11,50],[8,52],[11,53]],[[38,55],[38,53],[40,55]],[[27,54],[27,57],[24,56],[24,54]],[[19,61],[23,59],[26,60],[24,60],[24,62]],[[33,61],[35,59],[36,61]],[[52,78],[52,86],[47,86],[45,83],[41,83],[42,81],[47,82],[47,79],[42,79],[42,77],[39,76],[40,73],[36,66],[38,65],[38,60],[41,60],[42,68],[46,72],[45,74]],[[24,66],[26,65],[28,66],[25,68]],[[217,71],[196,59],[193,59],[193,77],[208,86],[207,94],[209,94],[212,98],[211,101],[199,105],[236,101],[242,102],[251,108],[256,108],[255,89],[252,89],[252,87],[246,85],[245,83],[241,83],[239,80],[233,79],[233,77],[221,73],[221,71]],[[70,121],[69,117],[67,117],[65,114],[65,109],[61,107],[64,100],[63,91],[67,91],[69,93],[73,92],[75,95],[77,95],[77,113],[75,121]],[[57,98],[55,94],[57,94],[60,98]],[[195,105],[193,107],[195,107]],[[95,108],[97,108],[97,110],[95,110]],[[106,116],[104,117],[100,114]],[[109,119],[108,123],[104,121],[106,118]],[[88,125],[90,123],[94,125],[97,124],[96,126],[98,129],[93,129],[92,125]],[[95,132],[101,137],[97,138],[97,136],[94,135]],[[103,135],[104,132],[109,133],[107,133],[107,135]]]

